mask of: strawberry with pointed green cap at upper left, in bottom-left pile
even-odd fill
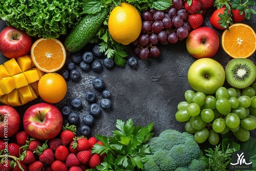
[[[38,146],[36,154],[39,155],[38,159],[45,164],[52,164],[55,160],[53,150],[48,148],[47,141],[42,146]]]

